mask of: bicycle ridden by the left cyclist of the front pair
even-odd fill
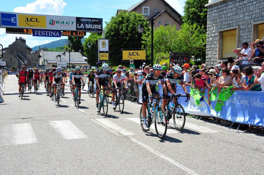
[[[158,100],[154,113],[151,112],[151,108],[153,107],[153,105],[151,105],[152,102],[149,103],[149,100],[148,100],[148,107],[146,111],[147,112],[146,122],[147,122],[148,127],[150,128],[150,126],[154,122],[156,133],[158,137],[161,139],[165,137],[166,132],[167,132],[167,116],[164,110],[162,109],[162,107],[160,107],[159,105],[159,100],[162,98],[168,98],[168,97],[154,98]],[[143,122],[143,116],[142,116],[142,109],[143,109],[143,105],[141,106],[140,114],[139,114],[140,125],[141,125],[142,130],[146,132],[147,130],[143,128],[144,122]]]

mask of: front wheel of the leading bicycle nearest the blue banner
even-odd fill
[[[173,110],[173,123],[175,129],[181,131],[185,125],[185,111],[182,105],[178,104]]]

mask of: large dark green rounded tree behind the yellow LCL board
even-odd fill
[[[142,24],[145,32],[149,31],[149,22],[142,20],[146,20],[142,14],[122,11],[106,22],[105,38],[109,39],[109,62],[112,65],[122,63],[122,49],[142,47],[142,34],[137,27]]]

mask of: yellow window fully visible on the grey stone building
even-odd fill
[[[236,53],[232,50],[233,48],[237,48],[236,44],[236,37],[237,37],[237,30],[229,30],[223,32],[222,36],[222,58],[227,58],[232,56],[233,58],[236,57]]]

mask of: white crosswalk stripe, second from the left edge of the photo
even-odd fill
[[[61,133],[64,139],[87,138],[70,120],[50,121],[49,124]]]

